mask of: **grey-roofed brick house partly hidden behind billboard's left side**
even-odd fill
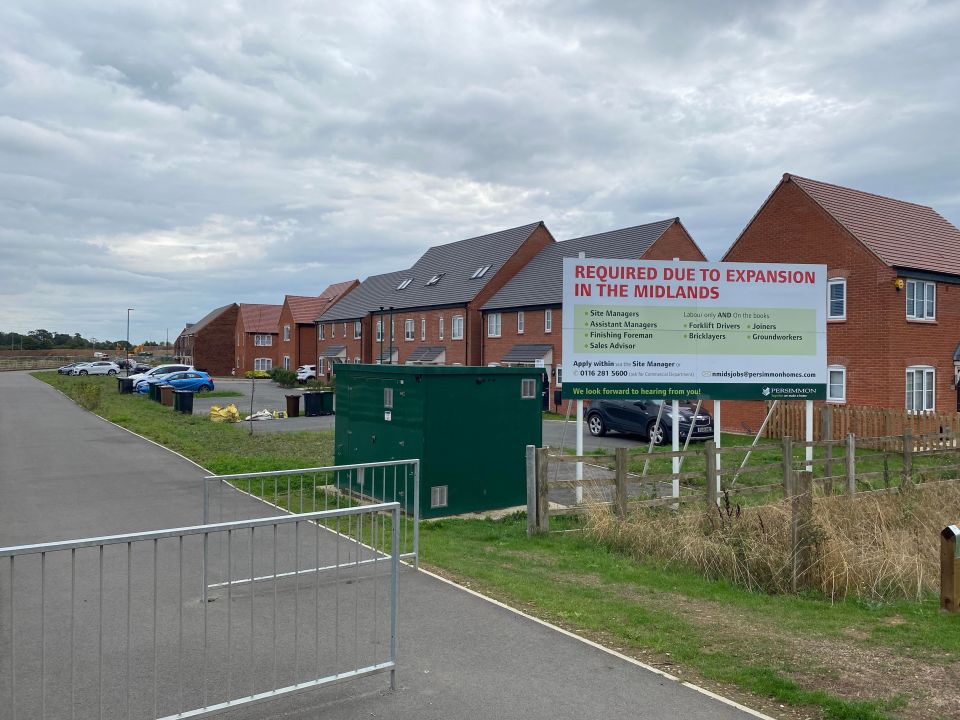
[[[547,245],[483,305],[484,365],[542,363],[551,388],[563,382],[563,258],[705,260],[679,218]],[[552,406],[558,411],[564,403]]]

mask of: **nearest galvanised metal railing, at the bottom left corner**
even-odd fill
[[[375,673],[395,687],[400,510],[0,548],[0,715],[173,720]],[[217,538],[225,582],[204,598]]]

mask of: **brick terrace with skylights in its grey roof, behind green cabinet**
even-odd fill
[[[542,222],[432,247],[408,270],[368,278],[319,318],[329,361],[479,365],[480,308],[553,236]],[[382,310],[381,310],[382,308]],[[380,323],[393,328],[380,333]],[[359,337],[357,335],[359,334]],[[359,354],[357,354],[359,350]]]

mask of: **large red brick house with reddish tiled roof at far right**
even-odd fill
[[[932,208],[784,175],[724,260],[827,265],[828,402],[955,411],[960,230]],[[756,430],[762,403],[724,403]]]

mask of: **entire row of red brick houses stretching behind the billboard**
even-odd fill
[[[280,305],[232,304],[184,328],[178,353],[216,374],[338,363],[543,367],[564,409],[564,257],[705,260],[679,218],[557,241],[543,222],[428,248],[409,268]],[[723,260],[828,267],[829,399],[954,410],[960,231],[932,208],[784,175]],[[756,429],[762,403],[725,404]]]

